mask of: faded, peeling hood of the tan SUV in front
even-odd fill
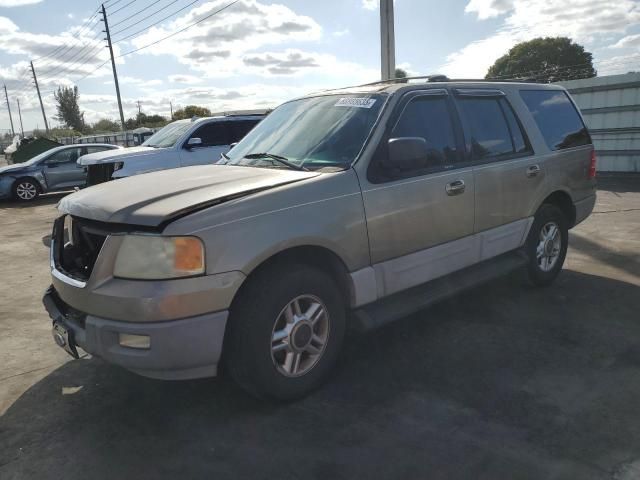
[[[193,210],[287,183],[315,172],[202,165],[101,183],[63,198],[63,213],[109,223],[157,227]]]

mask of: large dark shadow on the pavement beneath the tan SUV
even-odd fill
[[[0,418],[0,477],[587,479],[631,468],[640,288],[573,271],[546,289],[515,278],[351,334],[328,383],[289,404],[224,377],[162,382],[69,362]]]

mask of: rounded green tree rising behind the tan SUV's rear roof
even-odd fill
[[[535,38],[514,46],[489,68],[487,79],[526,79],[538,83],[591,78],[593,55],[567,37]]]

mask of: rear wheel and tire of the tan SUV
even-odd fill
[[[568,244],[569,227],[562,210],[555,205],[542,205],[525,244],[529,282],[536,286],[551,284],[562,269]]]

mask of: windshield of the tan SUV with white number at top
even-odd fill
[[[285,103],[221,163],[286,168],[269,156],[252,155],[268,153],[310,170],[347,168],[362,149],[384,99],[382,95],[326,95]]]

